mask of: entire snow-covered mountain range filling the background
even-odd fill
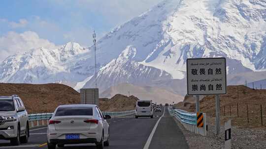
[[[8,57],[0,81],[94,87],[93,47],[66,47]],[[97,42],[98,85],[184,79],[187,58],[217,56],[229,75],[266,69],[265,0],[164,0]]]

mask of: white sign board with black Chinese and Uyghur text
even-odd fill
[[[187,87],[188,95],[226,94],[226,59],[187,59]]]

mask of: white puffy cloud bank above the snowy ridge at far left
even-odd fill
[[[27,52],[34,48],[55,48],[55,44],[46,39],[39,38],[38,34],[33,31],[17,33],[10,31],[0,37],[0,61],[7,56]]]

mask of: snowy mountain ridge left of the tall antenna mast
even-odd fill
[[[82,62],[88,52],[77,43],[67,43],[58,49],[39,48],[9,56],[0,63],[0,82],[57,82],[73,86],[93,73]],[[77,57],[79,61],[76,61]]]

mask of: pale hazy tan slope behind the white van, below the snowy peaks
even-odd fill
[[[129,83],[122,83],[117,86],[112,86],[104,91],[102,98],[109,98],[116,94],[135,95],[139,99],[153,100],[157,103],[172,103],[180,102],[183,100],[183,96],[166,91],[157,87],[150,86],[136,86]]]

